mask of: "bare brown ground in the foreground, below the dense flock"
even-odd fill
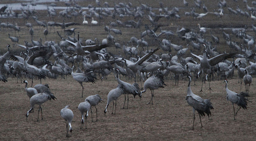
[[[39,83],[39,80],[34,82]],[[81,98],[81,86],[71,77],[67,80],[43,80],[43,84],[46,83],[58,100],[47,101],[42,105],[44,119],[40,120],[40,114],[39,122],[36,122],[38,106],[35,106],[35,112],[29,114],[26,121],[25,114],[30,106],[24,84],[17,83],[16,78],[8,78],[7,83],[1,83],[0,140],[254,140],[255,138],[255,85],[251,85],[249,93],[251,95],[249,100],[253,103],[248,103],[248,109],[241,109],[236,120],[233,120],[232,104],[226,101],[225,83],[211,82],[213,89],[211,93],[207,91],[206,83],[203,85],[204,93],[201,94],[198,93],[201,82],[196,82],[196,86],[191,86],[192,91],[202,98],[211,99],[214,110],[211,110],[212,116],[202,118],[203,128],[200,128],[199,116],[196,113],[195,129],[192,130],[192,107],[185,100],[188,82],[180,81],[179,86],[174,86],[173,81],[165,81],[167,84],[165,88],[155,90],[153,105],[146,105],[151,98],[149,90],[142,94],[141,99],[139,97],[134,99],[130,95],[128,109],[120,109],[124,102],[124,96],[121,96],[117,100],[116,114],[111,114],[113,106],[111,103],[106,116],[103,111],[108,92],[117,85],[112,75],[103,82],[84,83],[84,98]],[[229,80],[228,88],[240,92],[237,79]],[[244,89],[243,86],[242,90]],[[87,129],[80,129],[81,114],[77,106],[87,96],[94,94],[100,94],[104,101],[97,106],[98,121],[95,122],[96,110],[93,107],[94,122],[89,113]],[[69,138],[65,137],[65,121],[60,116],[60,110],[66,105],[69,105],[74,113],[73,132],[72,137]],[[238,109],[238,106],[235,108]]]

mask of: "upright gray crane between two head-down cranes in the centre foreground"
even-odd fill
[[[139,85],[138,85],[138,83],[130,84],[130,83],[127,83],[127,82],[124,82],[124,81],[120,80],[119,77],[118,77],[119,70],[115,69],[115,71],[117,72],[116,80],[117,80],[118,84],[123,84],[124,85],[124,104],[125,104],[125,100],[126,100],[125,94],[127,94],[127,109],[128,109],[128,103],[129,103],[129,96],[128,95],[132,94],[134,98],[135,98],[136,95],[139,95],[140,94]],[[123,107],[123,109],[124,109],[124,107]]]

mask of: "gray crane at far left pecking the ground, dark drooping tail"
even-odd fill
[[[43,120],[43,113],[42,113],[42,107],[41,105],[46,102],[47,100],[55,100],[57,98],[54,97],[54,95],[49,91],[49,90],[46,90],[44,91],[43,93],[38,93],[38,94],[35,94],[34,96],[32,96],[30,98],[30,110],[28,110],[27,114],[26,114],[26,120],[28,120],[28,115],[29,113],[31,113],[32,110],[34,110],[34,107],[35,105],[39,105],[39,109],[38,109],[38,115],[37,115],[37,121],[38,121],[38,118],[39,118],[39,111],[41,109],[41,115],[42,115],[42,120]]]

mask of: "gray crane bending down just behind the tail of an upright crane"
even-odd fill
[[[158,88],[164,88],[163,85],[166,86],[166,84],[164,83],[164,77],[161,74],[160,69],[158,69],[157,71],[158,72],[157,72],[156,75],[153,75],[153,76],[149,77],[144,82],[144,90],[140,92],[140,97],[141,97],[141,94],[146,92],[147,89],[149,89],[151,91],[151,99],[148,102],[148,104],[150,104],[151,101],[152,101],[152,104],[153,104],[154,90],[156,90]]]

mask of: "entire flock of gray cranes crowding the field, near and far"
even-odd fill
[[[74,7],[79,7],[78,4],[74,1],[73,3]],[[96,4],[100,5],[99,1],[96,2]],[[247,4],[247,3],[246,3]],[[69,7],[69,10],[61,11],[63,13],[59,13],[60,16],[63,18],[68,18],[71,15],[75,16],[75,13],[70,13],[70,3],[65,2],[65,5]],[[62,39],[62,41],[58,41],[58,43],[55,43],[55,41],[45,41],[45,43],[42,43],[42,38],[40,38],[40,42],[33,40],[33,26],[30,23],[26,23],[26,26],[28,27],[28,34],[31,35],[31,42],[29,43],[27,41],[24,45],[18,44],[18,47],[21,47],[22,49],[25,49],[26,52],[21,52],[19,55],[11,55],[10,47],[11,45],[7,45],[7,52],[0,57],[0,80],[3,82],[7,82],[8,76],[11,74],[17,77],[18,79],[24,79],[24,77],[28,80],[29,78],[32,79],[31,81],[31,88],[28,88],[28,81],[24,80],[23,83],[25,83],[25,91],[29,97],[30,100],[30,109],[26,113],[26,117],[28,119],[28,115],[31,113],[31,111],[34,109],[35,105],[39,106],[38,110],[38,117],[37,121],[39,119],[39,112],[41,109],[41,116],[42,115],[42,107],[41,105],[46,102],[47,100],[55,100],[57,99],[53,93],[50,91],[48,85],[43,84],[37,84],[33,88],[33,79],[46,79],[52,78],[52,79],[60,79],[58,76],[61,76],[61,78],[65,79],[65,75],[67,78],[67,75],[71,75],[75,81],[77,81],[82,86],[82,98],[84,94],[84,86],[83,82],[92,82],[95,83],[97,80],[106,79],[108,74],[111,74],[111,72],[114,73],[116,81],[118,83],[117,87],[113,90],[110,90],[108,93],[108,99],[107,99],[107,105],[104,109],[104,114],[107,113],[107,108],[109,107],[109,104],[113,101],[113,107],[112,107],[112,114],[116,114],[116,103],[114,104],[114,101],[124,94],[124,105],[123,109],[125,107],[126,102],[126,96],[127,96],[127,108],[128,108],[128,102],[129,102],[129,94],[132,94],[135,98],[136,95],[138,95],[140,98],[142,97],[142,93],[146,92],[147,89],[151,91],[151,99],[148,102],[148,104],[153,105],[153,97],[154,97],[154,90],[157,90],[158,88],[164,88],[166,85],[164,83],[164,80],[171,79],[172,76],[175,78],[175,85],[176,80],[178,81],[179,85],[179,78],[182,76],[184,78],[187,76],[189,79],[188,81],[188,89],[187,89],[187,96],[186,100],[188,102],[188,105],[193,107],[193,127],[194,129],[194,121],[195,121],[195,111],[198,112],[200,123],[202,127],[201,122],[201,116],[207,116],[211,115],[211,110],[213,109],[213,105],[210,102],[210,99],[203,99],[196,94],[194,94],[191,90],[190,83],[192,81],[192,73],[194,78],[194,84],[196,85],[196,80],[199,79],[199,77],[202,79],[202,86],[201,90],[199,92],[203,92],[203,83],[205,80],[209,82],[209,90],[211,92],[210,87],[210,81],[213,80],[214,77],[221,77],[222,80],[226,82],[226,92],[227,92],[227,100],[230,101],[233,104],[234,108],[234,120],[235,115],[240,110],[240,108],[247,109],[247,97],[249,97],[249,87],[252,83],[252,76],[253,74],[256,74],[256,63],[251,62],[250,60],[255,60],[255,51],[256,49],[252,49],[252,46],[254,45],[254,39],[253,36],[250,36],[249,34],[246,34],[246,28],[239,28],[239,29],[233,29],[231,28],[231,31],[234,34],[234,38],[237,37],[236,40],[243,39],[243,42],[248,45],[248,48],[246,46],[241,45],[239,42],[235,42],[231,40],[231,36],[227,33],[225,33],[224,29],[222,28],[223,37],[227,43],[227,46],[230,48],[230,53],[220,53],[217,51],[217,48],[219,47],[219,43],[221,40],[219,37],[216,37],[212,31],[210,31],[210,36],[207,36],[207,30],[210,30],[209,28],[201,27],[198,23],[198,29],[188,29],[182,27],[177,28],[176,34],[171,30],[162,30],[161,27],[164,25],[160,23],[159,19],[180,19],[179,15],[179,8],[173,7],[172,10],[168,10],[167,8],[164,8],[163,3],[160,3],[160,7],[158,9],[158,12],[154,12],[152,7],[141,4],[141,6],[138,6],[137,8],[132,7],[132,4],[124,4],[119,3],[115,5],[115,8],[113,11],[108,10],[108,4],[105,2],[104,5],[106,5],[107,8],[101,8],[100,10],[97,10],[95,7],[89,9],[87,11],[82,11],[80,9],[79,14],[82,15],[83,21],[81,20],[82,25],[89,25],[87,19],[92,19],[91,25],[99,26],[100,20],[103,19],[104,14],[111,15],[113,19],[115,17],[119,16],[120,18],[124,16],[131,16],[135,19],[139,19],[138,22],[135,22],[134,20],[128,20],[128,21],[121,21],[116,20],[116,22],[110,22],[108,27],[105,23],[104,29],[107,31],[107,37],[102,40],[102,44],[99,43],[98,39],[95,38],[95,42],[91,39],[88,39],[86,41],[82,40],[79,35],[80,32],[77,32],[77,38],[75,38],[76,28],[66,29],[69,26],[80,26],[81,24],[76,22],[68,22],[65,23],[65,20],[63,20],[62,23],[49,21],[48,23],[44,23],[37,19],[36,15],[33,14],[32,11],[29,11],[26,13],[25,10],[22,10],[21,15],[16,16],[28,18],[29,16],[32,16],[35,22],[37,23],[37,26],[39,27],[46,27],[44,30],[44,36],[45,40],[47,39],[46,36],[50,34],[50,31],[48,32],[48,26],[54,27],[54,26],[60,26],[61,29],[63,29],[65,36],[67,36],[68,39],[62,37],[60,33],[57,31],[58,36]],[[188,6],[188,2],[184,0],[184,5]],[[198,14],[196,13],[197,8],[193,7],[191,8],[191,12],[186,12],[185,15],[192,16],[196,19],[204,19],[209,14],[215,14],[216,16],[219,16],[220,18],[223,18],[225,12],[224,8],[226,7],[225,0],[220,1],[218,3],[218,6],[221,8],[220,12],[208,12],[207,7],[201,2],[201,0],[195,1],[195,6],[197,6],[198,9],[202,8],[206,13]],[[89,5],[88,5],[89,7]],[[133,9],[133,11],[131,11]],[[250,9],[252,7],[248,7],[247,9]],[[6,9],[6,8],[5,8]],[[1,13],[5,12],[4,10],[1,10]],[[49,15],[51,17],[56,16],[56,14],[52,13],[54,12],[53,9],[48,9]],[[73,11],[76,11],[75,8],[72,9]],[[230,12],[232,12],[232,9],[228,9]],[[9,11],[11,11],[9,9]],[[103,12],[105,11],[105,12]],[[98,12],[98,13],[97,13]],[[133,13],[134,12],[134,13]],[[163,13],[162,13],[163,12]],[[237,11],[235,11],[237,13]],[[241,9],[240,9],[241,12]],[[148,13],[145,14],[145,13]],[[69,15],[71,14],[71,15]],[[234,12],[233,12],[234,14]],[[252,14],[255,14],[254,10],[251,10],[251,18]],[[245,14],[244,16],[246,16]],[[98,18],[99,22],[94,20],[94,18]],[[106,16],[106,17],[107,17]],[[149,21],[143,21],[142,17],[147,17]],[[153,17],[153,18],[152,18]],[[104,17],[105,18],[105,17]],[[253,18],[252,18],[253,19]],[[146,19],[147,20],[147,19]],[[79,21],[80,22],[80,21]],[[116,50],[120,51],[121,44],[117,43],[117,37],[123,35],[122,31],[113,27],[127,27],[127,28],[140,28],[142,23],[150,23],[151,26],[148,26],[148,24],[145,24],[145,31],[141,32],[140,37],[131,37],[130,41],[123,41],[123,51],[125,54],[125,57],[120,56],[120,54],[117,55],[116,53],[113,53],[111,51],[107,51],[108,47],[114,46],[116,47]],[[0,24],[1,27],[6,28],[4,23]],[[35,26],[35,25],[34,25]],[[10,30],[13,28],[16,31],[22,30],[22,28],[18,28],[18,25],[16,24],[13,27],[9,25]],[[158,28],[160,27],[161,33],[158,35],[156,32],[158,32]],[[253,27],[253,24],[252,24]],[[16,29],[15,29],[16,28]],[[93,28],[93,27],[92,27]],[[151,29],[152,28],[152,29]],[[19,29],[19,30],[18,30]],[[102,29],[103,30],[103,29]],[[198,32],[196,32],[196,31]],[[39,29],[40,31],[40,29]],[[115,34],[115,37],[110,34],[110,31]],[[254,31],[256,32],[256,30]],[[19,32],[18,32],[19,33]],[[57,36],[56,34],[56,36]],[[70,35],[74,34],[74,38],[70,37]],[[11,41],[15,44],[19,42],[18,37],[10,36],[10,33],[8,34]],[[163,35],[165,36],[164,39],[162,39]],[[58,37],[57,36],[57,37]],[[172,37],[177,36],[180,40],[185,40],[188,44],[186,48],[183,48],[183,45],[177,45],[171,42]],[[149,38],[148,42],[146,41],[146,37]],[[209,42],[208,40],[212,39],[212,42]],[[161,41],[162,40],[162,41]],[[234,40],[234,39],[233,39]],[[98,43],[96,43],[98,41]],[[72,45],[72,46],[69,46]],[[149,46],[157,46],[155,49],[148,49]],[[215,47],[213,47],[215,46]],[[146,48],[147,50],[145,50]],[[165,53],[161,53],[159,55],[158,50],[165,51]],[[145,50],[145,51],[144,51]],[[171,53],[173,51],[173,53]],[[187,51],[191,50],[191,53],[188,53]],[[158,51],[158,52],[157,52]],[[200,51],[203,51],[203,55],[201,55]],[[196,55],[199,52],[198,55]],[[231,53],[231,52],[237,52],[237,53]],[[66,53],[70,54],[68,56]],[[240,53],[240,54],[238,54]],[[24,56],[24,58],[23,58]],[[194,60],[191,56],[197,58],[198,60]],[[186,58],[183,58],[186,57]],[[236,58],[233,61],[230,61],[228,59],[230,58]],[[52,63],[54,61],[54,63]],[[180,63],[179,63],[180,61]],[[247,66],[247,62],[250,64]],[[70,67],[70,64],[72,64],[72,67]],[[80,69],[79,64],[82,66],[82,69]],[[77,67],[76,72],[74,72],[75,67]],[[236,92],[233,92],[228,89],[228,79],[232,79],[232,76],[234,75],[235,68],[237,69],[238,74],[238,83],[240,82],[240,90],[242,90],[242,80],[245,85],[245,92],[240,92],[239,94]],[[97,74],[99,77],[97,78]],[[174,75],[173,75],[174,74]],[[128,82],[125,82],[124,79],[121,80],[121,75],[126,77],[127,79],[130,79],[134,81],[134,83],[130,84]],[[150,76],[149,76],[150,75]],[[171,75],[171,77],[168,77],[168,75]],[[149,77],[148,77],[149,76]],[[123,78],[124,78],[123,77]],[[136,82],[140,81],[140,85]],[[142,82],[144,81],[144,85],[142,87]],[[176,86],[175,86],[176,87]],[[144,90],[142,90],[144,89]],[[98,121],[97,117],[97,108],[96,106],[101,103],[103,99],[100,98],[99,94],[88,96],[84,102],[81,102],[78,105],[78,110],[81,112],[82,119],[81,119],[81,126],[84,124],[84,116],[85,116],[85,128],[87,128],[86,120],[89,115],[89,110],[91,110],[92,115],[92,106],[96,109],[96,121]],[[250,102],[250,101],[249,101]],[[239,106],[238,111],[235,113],[235,107],[234,104]],[[115,112],[114,112],[114,106],[115,106]],[[217,110],[217,109],[215,109]],[[69,131],[72,132],[71,122],[74,118],[74,114],[72,110],[66,106],[65,108],[61,109],[60,111],[61,117],[66,121],[66,128],[67,128],[67,136],[68,136],[68,125],[69,125]],[[93,118],[92,118],[93,121]]]

